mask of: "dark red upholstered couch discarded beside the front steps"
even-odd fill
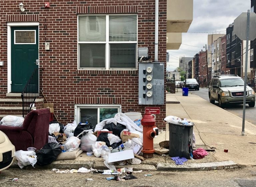
[[[50,110],[43,108],[29,112],[22,127],[8,127],[0,125],[15,146],[15,150],[27,150],[28,147],[41,149],[48,142]]]

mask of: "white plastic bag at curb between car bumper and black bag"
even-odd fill
[[[29,164],[34,167],[37,162],[35,151],[18,150],[15,152],[15,157],[18,160],[18,166],[20,166],[21,169]]]

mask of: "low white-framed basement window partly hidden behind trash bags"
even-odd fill
[[[89,122],[94,127],[101,121],[114,118],[116,113],[122,112],[121,105],[75,105],[75,120],[78,123]]]

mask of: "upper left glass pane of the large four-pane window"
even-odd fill
[[[79,42],[105,42],[106,16],[79,16]]]

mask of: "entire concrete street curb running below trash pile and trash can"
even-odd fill
[[[18,161],[13,161],[10,168],[19,168]],[[184,165],[176,165],[174,163],[158,163],[157,167],[153,164],[138,164],[138,165],[115,165],[116,168],[132,167],[134,171],[204,171],[217,169],[232,169],[238,168],[239,165],[232,160],[221,162],[206,162],[206,163],[189,163]],[[38,166],[35,164],[35,169],[78,169],[80,167],[94,168],[94,169],[108,169],[102,161],[75,161],[75,160],[57,160],[46,166]],[[26,169],[33,169],[31,165],[25,167]]]

